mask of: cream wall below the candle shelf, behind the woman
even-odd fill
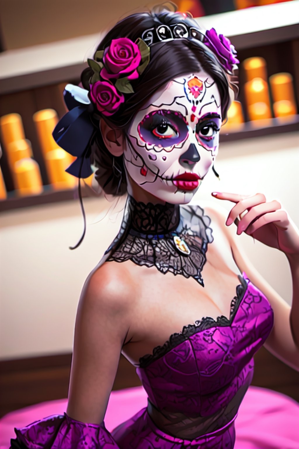
[[[210,173],[196,195],[198,203],[214,190],[263,192],[269,200],[279,199],[298,226],[298,137],[297,132],[222,144],[216,164],[221,181]],[[114,223],[106,217],[93,224],[110,204],[96,198],[84,204],[87,233],[74,251],[68,247],[82,233],[78,200],[1,214],[0,359],[71,351],[83,282],[121,220],[119,214]],[[221,205],[231,207],[229,202]],[[249,236],[239,238],[256,268],[290,304],[285,256],[260,242],[253,244]]]

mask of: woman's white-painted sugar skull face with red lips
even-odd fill
[[[156,198],[188,203],[217,155],[221,121],[220,94],[204,70],[173,79],[135,115],[126,171]]]

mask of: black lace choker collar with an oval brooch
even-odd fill
[[[193,277],[204,286],[201,271],[213,240],[210,221],[199,206],[145,204],[129,196],[107,261],[156,266],[161,273]]]

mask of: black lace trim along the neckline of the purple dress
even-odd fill
[[[195,321],[195,324],[184,326],[181,332],[175,332],[174,334],[170,335],[169,340],[167,340],[162,346],[156,346],[156,348],[153,349],[152,354],[146,354],[145,356],[140,357],[139,367],[146,368],[154,360],[165,356],[167,352],[171,351],[173,348],[175,348],[180,343],[184,342],[200,330],[210,329],[211,327],[215,326],[230,326],[238,310],[239,304],[241,303],[245,292],[247,291],[247,282],[241,276],[239,276],[239,279],[242,284],[236,287],[236,296],[234,296],[230,303],[230,319],[228,319],[224,315],[217,317],[216,320],[212,317],[203,317],[201,320]]]

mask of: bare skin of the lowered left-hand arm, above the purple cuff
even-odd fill
[[[133,296],[122,267],[113,265],[104,264],[87,278],[78,305],[66,412],[84,423],[104,420],[129,329]]]

